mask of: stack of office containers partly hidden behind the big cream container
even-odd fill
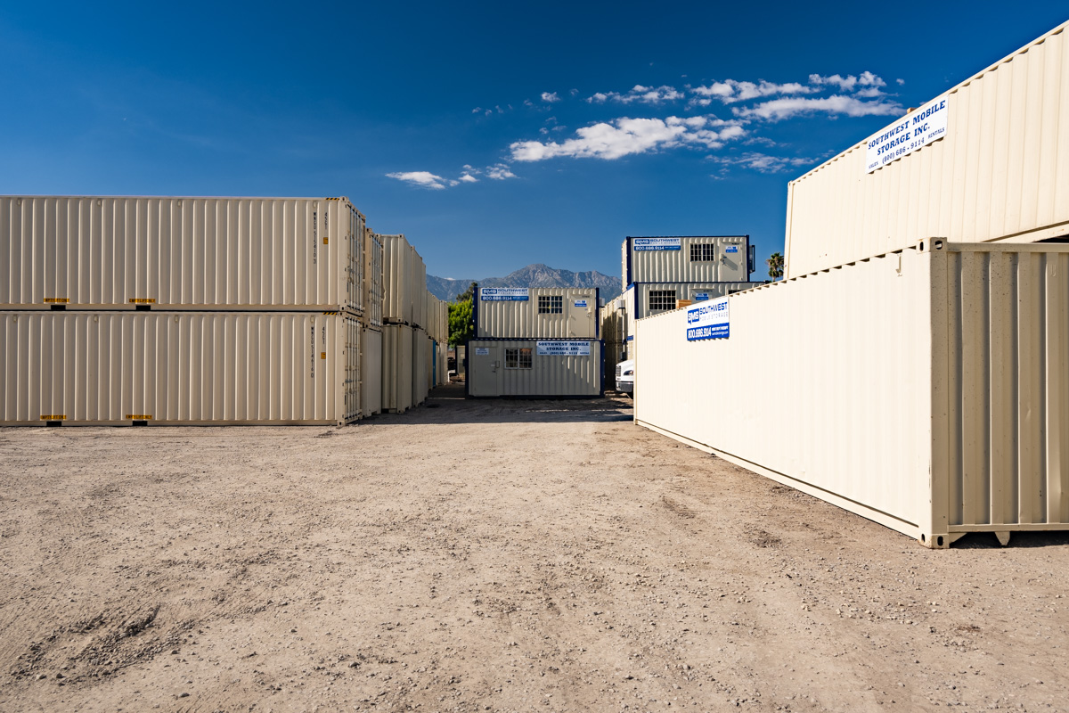
[[[628,237],[621,248],[623,292],[601,311],[605,370],[635,358],[635,320],[763,284],[750,282],[748,235]]]

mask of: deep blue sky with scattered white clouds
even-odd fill
[[[433,275],[783,249],[787,182],[1064,2],[0,6],[0,192],[348,196]]]

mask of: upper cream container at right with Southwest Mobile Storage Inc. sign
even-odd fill
[[[949,90],[942,139],[871,173],[861,142],[792,181],[787,276],[930,235],[969,243],[1069,234],[1067,25]]]

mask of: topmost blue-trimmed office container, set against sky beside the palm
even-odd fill
[[[635,241],[660,241],[636,249]],[[749,236],[629,237],[624,289],[632,282],[744,282],[749,279]]]

